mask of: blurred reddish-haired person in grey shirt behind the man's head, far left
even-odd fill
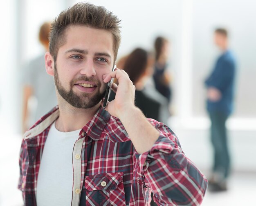
[[[51,22],[44,22],[40,26],[38,37],[43,45],[44,52],[31,60],[23,73],[23,132],[31,127],[43,114],[57,105],[53,77],[45,72],[45,52],[49,51],[50,26]],[[32,97],[35,97],[36,101],[32,101],[31,105],[29,100]]]

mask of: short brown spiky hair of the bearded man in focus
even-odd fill
[[[59,48],[65,44],[66,29],[71,25],[84,25],[90,28],[105,29],[112,33],[115,62],[121,42],[120,22],[121,20],[116,15],[103,6],[77,3],[62,11],[52,22],[49,51],[56,61]]]

